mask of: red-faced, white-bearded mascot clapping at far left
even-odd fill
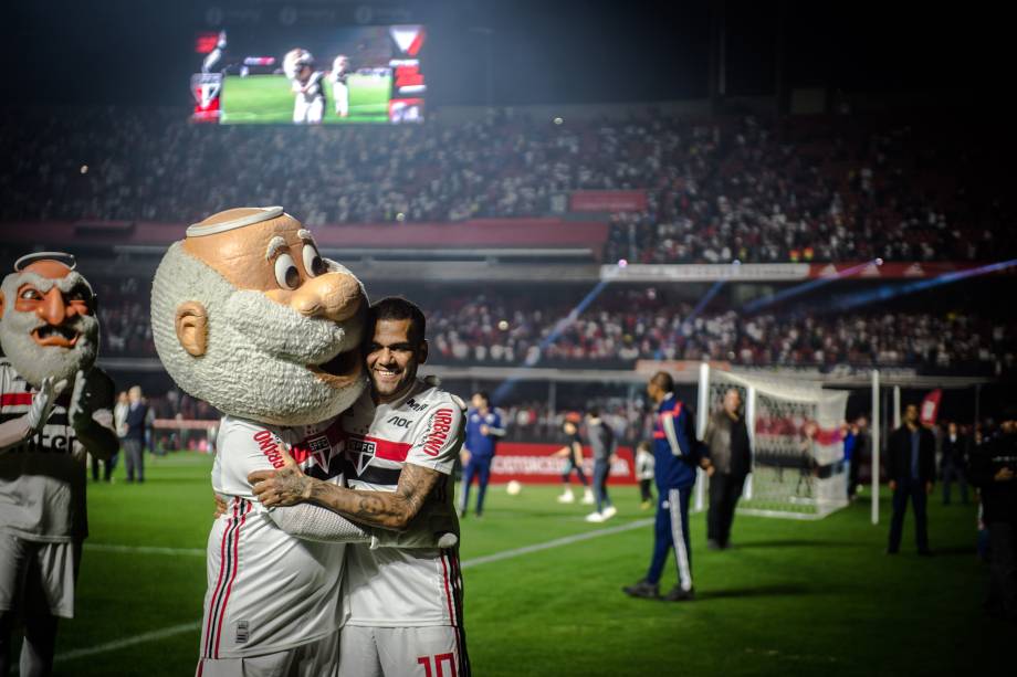
[[[119,444],[113,381],[94,367],[95,295],[74,267],[70,254],[30,254],[0,284],[0,675],[19,615],[21,675],[51,671],[87,536],[86,456]]]

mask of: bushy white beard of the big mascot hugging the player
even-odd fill
[[[174,325],[177,307],[188,300],[208,314],[201,357],[184,350]],[[337,390],[307,364],[357,350],[364,324],[363,313],[340,326],[304,317],[261,292],[237,289],[180,243],[167,252],[153,283],[153,337],[169,375],[223,413],[274,425],[317,423],[354,403],[365,378]]]

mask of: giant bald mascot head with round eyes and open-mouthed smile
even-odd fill
[[[337,415],[364,390],[367,299],[281,207],[213,214],[172,244],[151,289],[151,329],[177,384],[275,425]]]

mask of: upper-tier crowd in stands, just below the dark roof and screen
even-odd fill
[[[442,222],[546,215],[574,190],[644,189],[647,210],[611,216],[606,260],[969,261],[1017,250],[1000,228],[1013,209],[990,151],[950,127],[933,137],[849,116],[776,125],[652,112],[312,129],[185,117],[0,112],[0,222],[190,223],[239,204],[284,204],[311,225]]]

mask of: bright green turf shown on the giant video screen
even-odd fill
[[[387,123],[391,77],[350,75],[349,116],[335,114],[332,83],[325,84],[326,124]],[[222,85],[223,124],[292,123],[293,93],[282,75],[229,75]]]

